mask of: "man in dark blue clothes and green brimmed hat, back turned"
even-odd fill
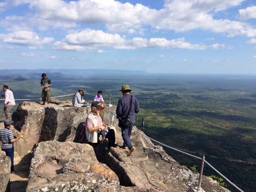
[[[121,127],[122,131],[122,138],[124,141],[123,148],[127,149],[129,148],[129,156],[133,154],[135,151],[135,147],[132,146],[131,143],[131,133],[132,133],[132,127],[135,123],[135,114],[139,113],[140,105],[138,100],[135,97],[132,97],[132,106],[130,111],[130,126],[127,128],[124,125],[122,125],[119,118],[127,119],[129,118],[129,109],[130,109],[130,102],[131,102],[131,95],[130,92],[132,91],[130,89],[129,85],[123,85],[122,89],[119,90],[122,91],[123,97],[118,100],[118,104],[116,107],[116,116],[119,120],[118,126]]]

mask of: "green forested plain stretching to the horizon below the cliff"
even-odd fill
[[[111,93],[113,105],[122,97],[118,91],[121,86],[129,84],[132,95],[140,102],[141,110],[135,123],[139,129],[144,118],[144,131],[149,137],[192,151],[199,157],[205,154],[206,161],[230,181],[244,191],[254,191],[256,76],[149,74],[78,78],[55,73],[48,77],[52,80],[53,97],[83,88],[85,100],[91,102],[93,95],[102,90],[105,103]],[[0,76],[0,85],[7,84],[15,99],[41,98],[41,78],[39,75],[36,78],[35,75]],[[71,96],[59,99],[67,100]],[[0,116],[4,117],[3,110]],[[198,159],[164,149],[181,165],[196,165],[199,171]],[[218,175],[207,165],[203,174]],[[228,188],[236,191],[230,185]]]

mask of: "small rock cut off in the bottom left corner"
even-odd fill
[[[0,192],[10,191],[11,159],[0,151]]]

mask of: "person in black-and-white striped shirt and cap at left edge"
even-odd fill
[[[13,164],[13,158],[14,158],[14,147],[13,143],[20,138],[13,137],[13,133],[10,130],[10,127],[12,126],[13,121],[10,118],[4,119],[4,129],[0,130],[0,140],[2,141],[2,151],[5,151],[6,155],[11,158],[11,173],[14,173],[14,164]]]

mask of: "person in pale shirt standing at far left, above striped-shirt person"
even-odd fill
[[[12,119],[10,111],[12,110],[12,108],[16,104],[15,100],[14,100],[14,97],[13,97],[13,93],[12,93],[11,90],[9,90],[9,87],[7,85],[3,86],[3,90],[5,92],[5,95],[1,95],[1,97],[5,97],[5,100],[4,100],[4,114],[5,114],[6,118]]]

